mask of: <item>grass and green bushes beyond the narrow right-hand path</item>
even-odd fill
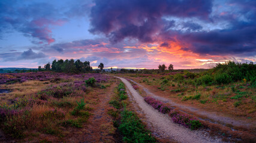
[[[159,95],[171,97],[235,117],[256,119],[256,65],[227,62],[209,70],[198,72],[173,70],[152,74],[122,74],[143,83]],[[147,71],[146,71],[147,72]],[[157,89],[157,90],[156,90]]]

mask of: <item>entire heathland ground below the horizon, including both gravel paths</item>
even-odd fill
[[[7,89],[0,141],[200,142],[207,134],[209,142],[254,142],[255,67],[232,64],[201,72],[0,74]]]

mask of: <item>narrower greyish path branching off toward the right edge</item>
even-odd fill
[[[131,80],[131,82],[134,82],[134,80]],[[195,108],[195,107],[178,104],[176,102],[171,101],[170,99],[167,99],[167,98],[164,98],[164,97],[159,97],[159,96],[153,94],[147,88],[144,88],[144,86],[140,85],[137,82],[134,82],[134,83],[136,83],[138,86],[141,86],[141,88],[143,88],[144,92],[146,92],[147,95],[150,95],[151,97],[154,97],[157,100],[160,100],[162,102],[169,103],[171,105],[179,107],[179,108],[183,109],[184,111],[186,111],[186,110],[187,111],[192,111],[192,112],[200,114],[202,116],[206,116],[208,119],[215,120],[215,123],[221,123],[222,125],[231,124],[233,126],[241,126],[242,125],[246,128],[256,127],[256,122],[248,123],[248,122],[243,121],[243,120],[234,120],[230,117],[225,117],[224,115],[222,115],[220,113],[204,111],[204,110],[200,110],[200,109]],[[212,121],[209,120],[209,122],[212,122]]]

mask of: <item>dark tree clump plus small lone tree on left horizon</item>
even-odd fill
[[[98,66],[102,71],[104,68],[104,64],[100,63]],[[86,73],[92,71],[92,67],[90,66],[89,61],[82,62],[80,60],[53,60],[52,65],[49,63],[44,65],[44,68],[41,66],[38,67],[38,71],[56,71],[56,72],[64,72],[64,73]]]

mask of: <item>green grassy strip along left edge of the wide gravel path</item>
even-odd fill
[[[126,108],[127,93],[124,83],[118,85],[116,96],[109,102],[115,108],[108,111],[114,117],[114,125],[118,128],[124,142],[156,142],[150,135],[149,130],[145,129],[137,115]]]

